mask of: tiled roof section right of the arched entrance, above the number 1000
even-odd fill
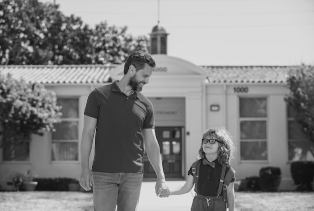
[[[208,83],[285,83],[297,66],[201,66]]]

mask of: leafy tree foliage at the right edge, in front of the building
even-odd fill
[[[314,66],[299,66],[287,78],[290,89],[285,101],[296,111],[295,120],[302,132],[314,142]]]

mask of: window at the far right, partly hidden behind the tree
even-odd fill
[[[287,107],[287,131],[288,131],[288,159],[296,160],[314,160],[311,151],[314,149],[314,143],[310,142],[306,135],[301,131],[301,125],[295,121],[296,111]]]

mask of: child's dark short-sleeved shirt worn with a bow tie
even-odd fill
[[[206,158],[203,158],[206,159]],[[222,165],[218,163],[218,159],[215,159],[215,167],[213,168],[210,165],[203,165],[203,160],[200,161],[200,171],[199,171],[199,180],[198,180],[198,188],[197,192],[201,195],[205,196],[216,196],[219,186],[219,180],[222,171]],[[228,170],[230,169],[230,165],[227,165],[225,175],[227,174]],[[192,173],[192,166],[188,171],[188,175]],[[235,175],[231,179],[231,182],[235,181]],[[222,193],[220,193],[222,194]]]

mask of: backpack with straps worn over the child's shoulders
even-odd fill
[[[197,185],[198,185],[198,179],[199,179],[199,171],[200,171],[200,165],[201,165],[201,160],[196,160],[192,164],[192,173],[193,173],[193,183],[195,183],[195,192],[197,193]],[[230,169],[228,170],[226,176],[226,165],[222,166],[222,171],[221,171],[221,176],[220,176],[220,181],[219,181],[219,186],[218,186],[218,191],[217,191],[217,197],[219,198],[219,195],[223,193],[224,200],[226,202],[226,208],[229,207],[228,205],[228,199],[227,199],[227,186],[230,184],[231,179],[233,178],[233,174],[235,174],[235,170],[230,166]]]

